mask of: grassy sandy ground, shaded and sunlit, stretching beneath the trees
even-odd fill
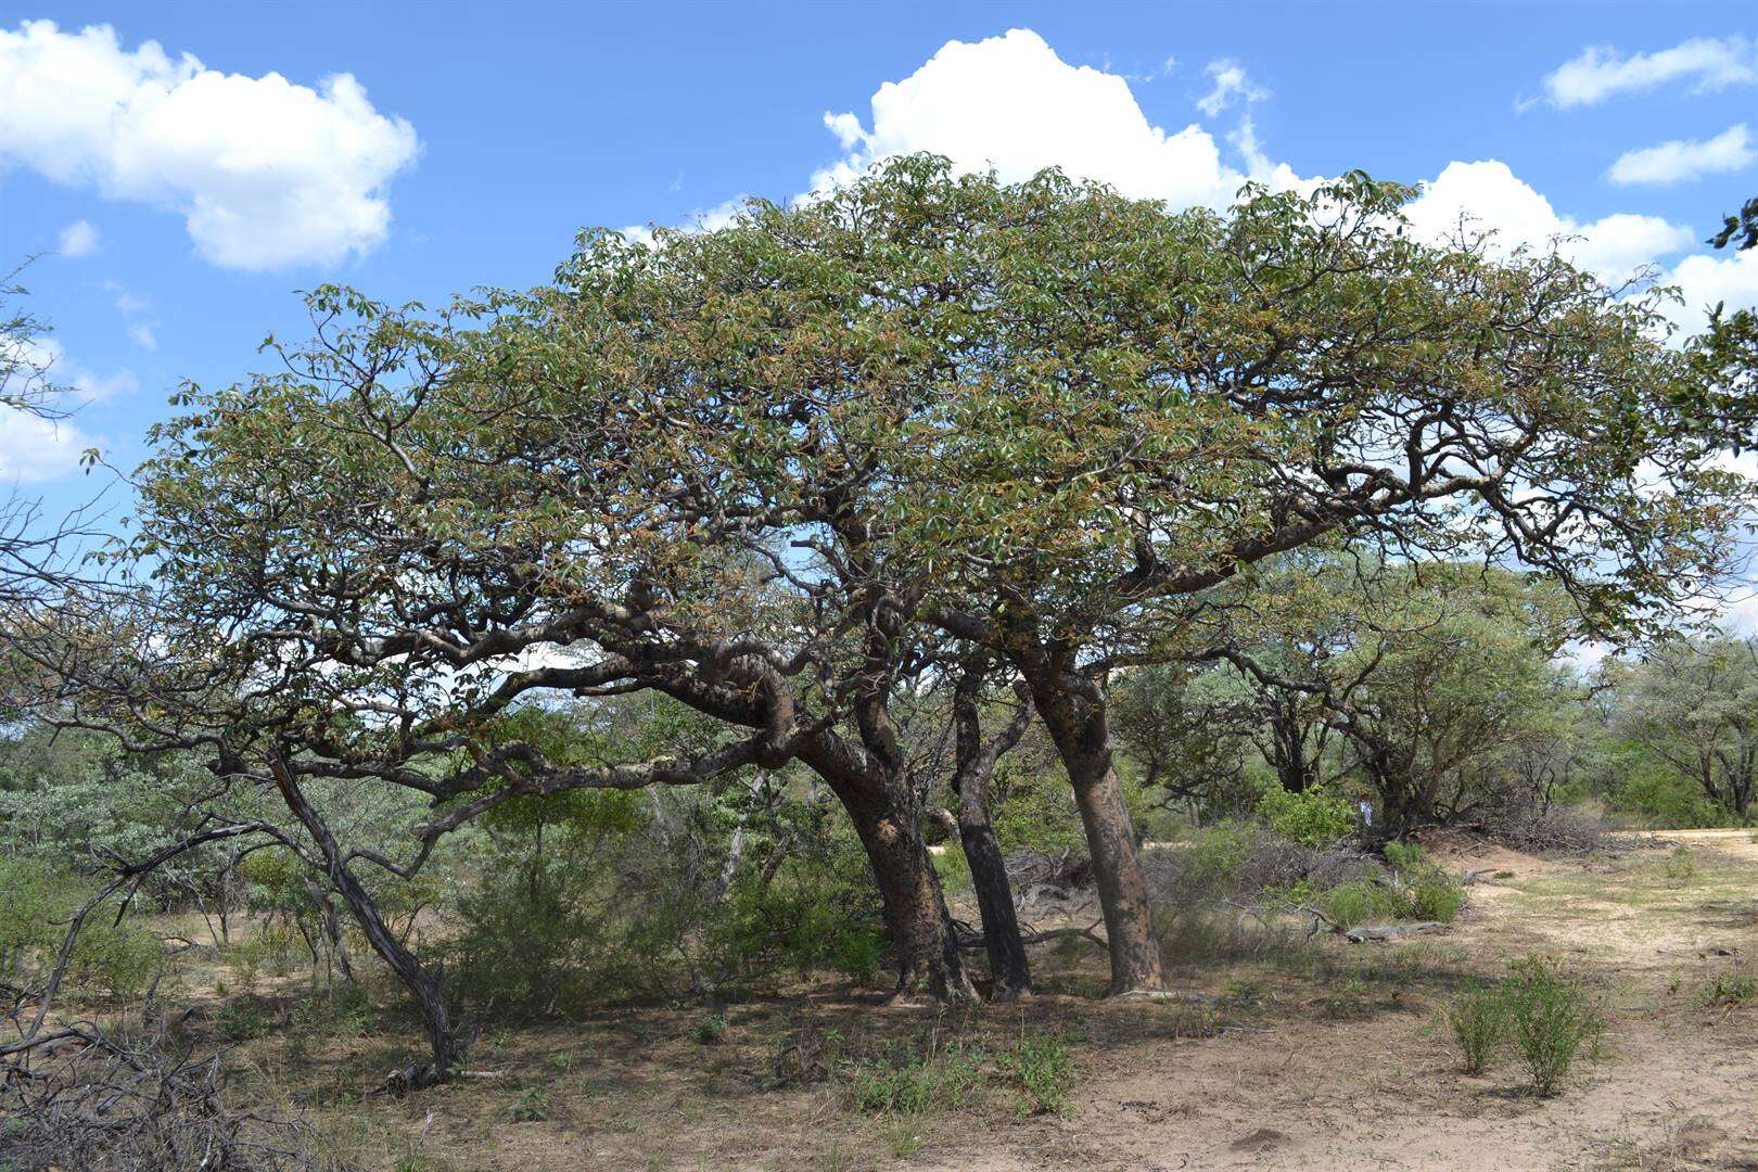
[[[1749,831],[1670,833],[1587,861],[1429,845],[1478,877],[1450,931],[1204,961],[1174,973],[1181,1002],[1097,996],[1102,958],[1076,944],[1037,952],[1042,991],[1023,1007],[962,1023],[803,986],[726,1005],[726,1040],[701,1045],[701,1005],[624,1007],[490,1031],[471,1063],[505,1077],[406,1100],[369,1093],[411,1058],[406,1031],[304,1056],[276,1033],[237,1056],[315,1111],[352,1163],[397,1172],[1758,1170],[1758,1003],[1704,998],[1718,977],[1758,972]],[[1533,1096],[1512,1056],[1463,1075],[1443,1021],[1461,980],[1535,952],[1580,973],[1607,1019],[1600,1056],[1554,1098]],[[1208,1024],[1187,1028],[1194,1016]],[[846,1079],[775,1084],[807,1021],[868,1053],[925,1031],[1060,1035],[1079,1081],[1062,1116],[1021,1116],[1006,1096],[863,1114]],[[541,1118],[520,1121],[534,1093]]]

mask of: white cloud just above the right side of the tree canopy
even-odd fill
[[[1498,160],[1452,162],[1406,207],[1412,230],[1440,241],[1493,230],[1503,248],[1551,248],[1607,281],[1624,281],[1693,241],[1684,225],[1660,216],[1617,213],[1591,223],[1565,216]]]

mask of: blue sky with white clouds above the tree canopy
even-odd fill
[[[1361,167],[1431,183],[1435,232],[1459,211],[1508,239],[1584,232],[1607,276],[1654,264],[1753,304],[1758,253],[1702,241],[1758,193],[1754,23],[1438,0],[0,4],[0,258],[42,253],[26,283],[90,399],[54,436],[0,416],[0,480],[51,510],[88,496],[81,446],[137,462],[179,380],[229,383],[269,330],[301,334],[297,288],[531,285],[584,225],[712,223],[897,149],[1173,204]]]

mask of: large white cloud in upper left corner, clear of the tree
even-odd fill
[[[316,90],[123,49],[109,26],[0,30],[0,165],[185,216],[197,251],[232,269],[334,264],[378,244],[385,188],[415,128],[373,109],[350,74]]]

